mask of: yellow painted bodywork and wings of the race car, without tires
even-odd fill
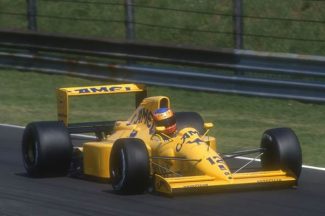
[[[62,88],[57,92],[58,118],[68,123],[70,96],[142,91],[145,91],[143,86],[134,84]],[[110,178],[112,146],[117,139],[130,137],[145,143],[155,190],[164,194],[235,186],[296,184],[295,176],[282,170],[231,173],[217,153],[216,139],[206,133],[200,135],[194,128],[183,128],[174,137],[156,134],[151,113],[162,107],[171,107],[168,97],[147,97],[127,121],[115,123],[112,134],[103,140],[85,143],[82,147],[84,174]],[[208,130],[212,124],[205,124],[205,127]]]

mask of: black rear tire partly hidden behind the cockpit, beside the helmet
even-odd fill
[[[180,131],[183,128],[195,128],[199,134],[205,133],[204,121],[200,114],[196,112],[176,112],[176,127]]]

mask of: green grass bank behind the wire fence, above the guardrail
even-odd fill
[[[98,0],[87,1],[100,2]],[[124,1],[116,0],[114,2],[123,3]],[[46,0],[38,0],[38,3],[39,15],[107,20],[95,22],[39,17],[39,31],[113,39],[125,38],[124,7],[121,5],[76,4]],[[151,7],[209,12],[198,14],[136,7],[136,22],[182,28],[178,30],[136,25],[136,37],[139,41],[214,48],[233,48],[234,46],[233,35],[231,34],[190,31],[190,29],[199,29],[212,32],[232,32],[232,17],[217,15],[232,14],[232,1],[230,0],[135,0],[135,3]],[[0,11],[24,13],[25,8],[25,0],[0,0]],[[325,21],[325,3],[323,1],[305,0],[249,0],[244,1],[244,14],[257,17]],[[0,28],[26,29],[26,26],[24,16],[0,13]],[[324,40],[325,25],[324,22],[289,22],[246,18],[244,20],[244,33]],[[325,55],[325,42],[246,36],[244,37],[244,44],[245,49],[258,51]]]

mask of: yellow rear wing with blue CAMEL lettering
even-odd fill
[[[137,84],[116,84],[86,87],[60,88],[57,90],[58,120],[63,121],[66,126],[69,122],[69,97],[90,96],[103,94],[135,93],[135,105],[139,106],[141,101],[147,97],[147,90],[144,85]]]

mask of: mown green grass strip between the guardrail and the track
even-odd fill
[[[18,125],[55,120],[58,87],[105,83],[13,70],[0,71],[0,80],[0,122]],[[259,146],[264,130],[286,126],[300,139],[304,163],[325,166],[325,104],[162,87],[149,87],[149,95],[169,96],[175,111],[197,111],[206,122],[213,122],[211,134],[222,152]],[[133,110],[132,95],[72,99],[74,122],[123,120]]]

